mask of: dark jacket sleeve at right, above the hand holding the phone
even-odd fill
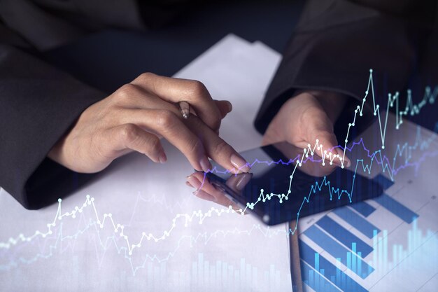
[[[436,52],[437,1],[307,1],[255,127],[264,132],[297,89],[340,92],[356,106],[365,96],[369,69],[379,104],[386,106],[388,92],[407,87],[422,98],[426,85],[438,85]]]

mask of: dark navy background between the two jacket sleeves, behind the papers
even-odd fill
[[[282,52],[304,1],[239,2],[191,8],[157,29],[107,29],[44,53],[45,60],[111,93],[143,72],[172,76],[229,33]]]

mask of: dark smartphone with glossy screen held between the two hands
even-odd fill
[[[350,169],[328,167],[321,158],[306,158],[302,153],[302,149],[286,142],[251,149],[241,153],[252,165],[249,174],[232,174],[212,162],[213,171],[206,173],[206,179],[267,225],[297,220],[383,193],[372,179]],[[306,161],[297,166],[297,160],[302,158]],[[233,186],[243,175],[246,185]]]

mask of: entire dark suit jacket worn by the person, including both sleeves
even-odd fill
[[[55,202],[90,177],[46,155],[87,106],[106,96],[38,60],[37,52],[108,25],[153,27],[174,13],[169,2],[149,10],[134,0],[0,0],[0,186],[24,207]],[[309,1],[255,127],[264,132],[298,88],[361,100],[370,68],[384,90],[402,90],[414,75],[435,85],[436,27],[436,1]]]

